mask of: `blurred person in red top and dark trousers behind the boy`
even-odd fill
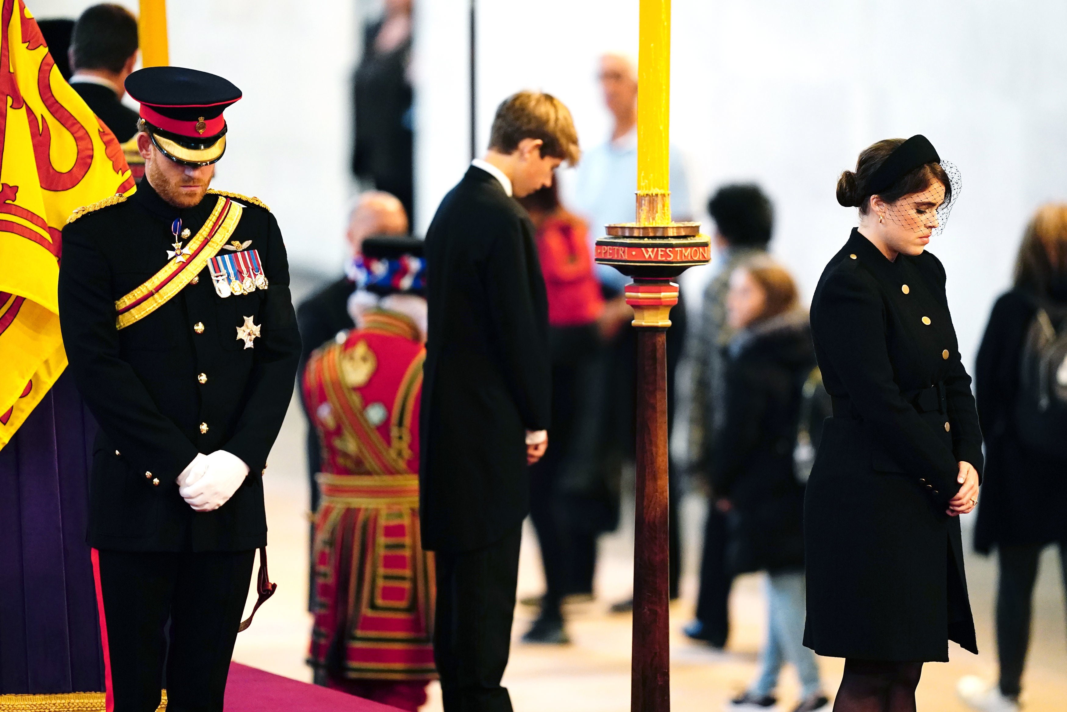
[[[569,643],[561,602],[573,575],[575,550],[588,558],[595,532],[585,525],[594,448],[593,371],[600,350],[598,319],[604,298],[593,276],[588,228],[559,203],[554,179],[519,202],[537,231],[538,256],[548,298],[552,360],[552,448],[530,468],[530,519],[544,566],[541,613],[524,643]]]

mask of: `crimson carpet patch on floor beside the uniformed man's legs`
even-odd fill
[[[226,712],[397,712],[397,708],[229,664]]]

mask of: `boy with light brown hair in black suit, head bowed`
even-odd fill
[[[436,552],[434,658],[446,712],[510,712],[508,663],[528,464],[547,447],[544,280],[513,199],[578,159],[571,113],[520,92],[497,109],[483,159],[426,234],[429,333],[419,470],[423,545]]]

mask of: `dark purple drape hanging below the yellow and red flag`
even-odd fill
[[[85,543],[95,436],[64,374],[0,449],[0,693],[103,690]]]

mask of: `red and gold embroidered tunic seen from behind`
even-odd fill
[[[418,521],[426,350],[407,317],[372,311],[316,351],[304,397],[322,448],[312,663],[351,679],[429,680],[433,554]]]

